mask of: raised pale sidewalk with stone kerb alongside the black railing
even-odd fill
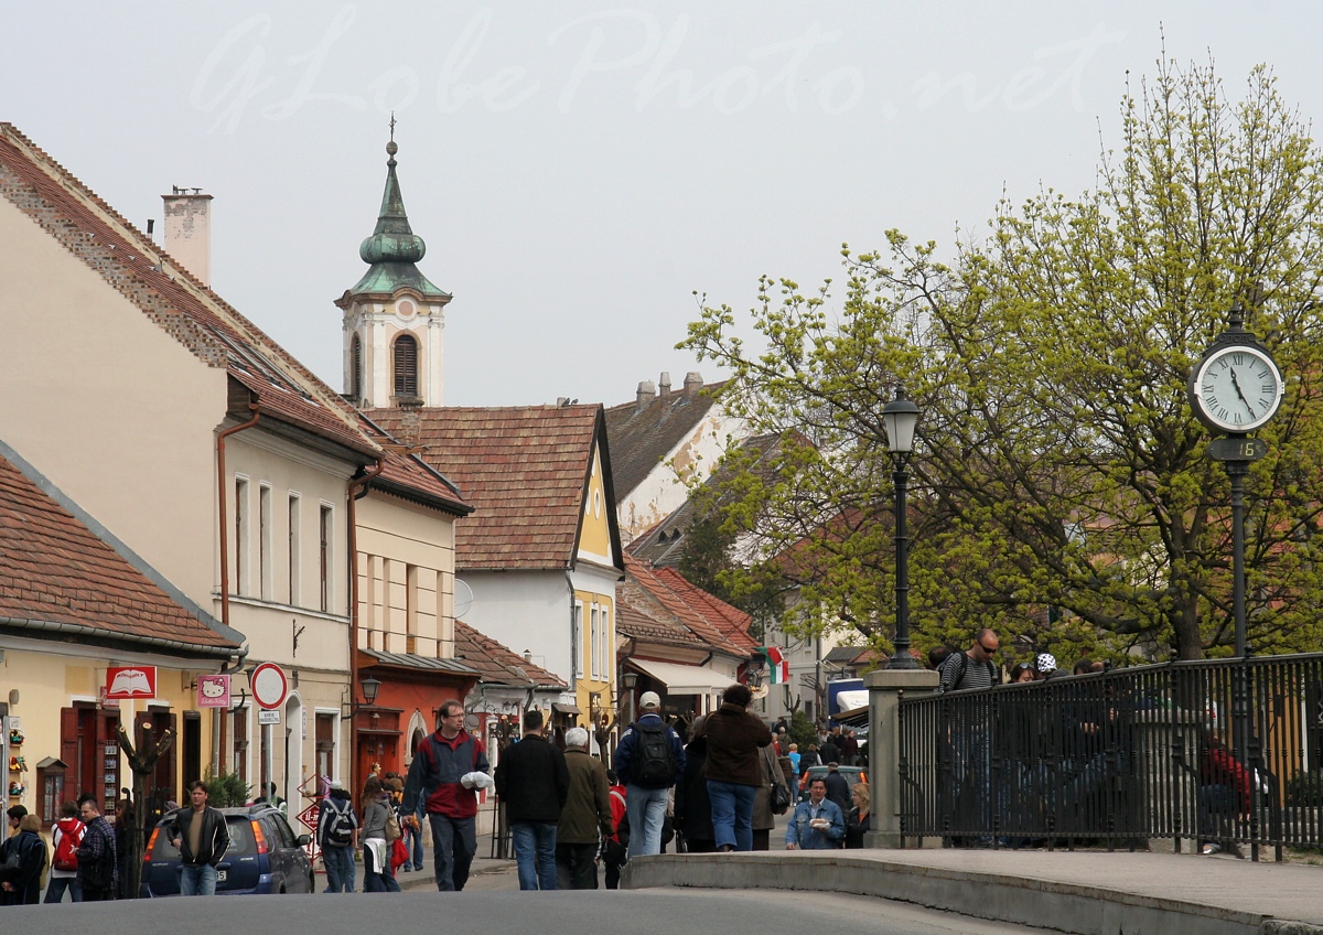
[[[1078,935],[1323,935],[1323,866],[1196,854],[771,850],[659,854],[627,889],[859,893]]]

